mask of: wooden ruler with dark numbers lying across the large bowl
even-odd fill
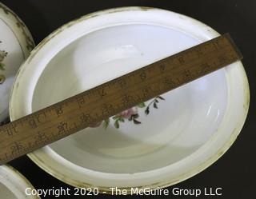
[[[240,59],[224,34],[12,121],[0,127],[0,164]]]

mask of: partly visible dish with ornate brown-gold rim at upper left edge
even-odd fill
[[[33,48],[24,23],[0,2],[0,122],[9,116],[10,88],[18,67]]]

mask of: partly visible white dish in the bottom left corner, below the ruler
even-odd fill
[[[0,166],[0,197],[1,199],[38,199],[27,196],[26,188],[34,189],[21,173],[9,165]]]

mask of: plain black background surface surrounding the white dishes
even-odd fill
[[[2,1],[26,23],[36,44],[66,22],[94,11],[118,6],[152,6],[186,14],[223,34],[229,32],[244,55],[243,64],[250,82],[250,110],[241,134],[234,145],[208,169],[178,185],[181,189],[222,187],[222,197],[210,198],[256,198],[256,1],[254,0],[4,0]],[[52,189],[68,185],[58,181],[34,165],[27,157],[12,161],[36,189]],[[70,187],[70,186],[69,186]],[[70,187],[71,188],[71,187]],[[88,196],[87,196],[88,197]],[[102,197],[102,195],[101,195]],[[112,196],[104,196],[113,198]],[[171,197],[171,196],[170,196]],[[46,197],[53,198],[53,197]],[[61,197],[65,198],[65,197]],[[74,197],[69,197],[74,198]],[[79,197],[75,197],[79,198]],[[85,198],[85,197],[81,197]],[[176,197],[174,197],[176,198]],[[189,198],[189,197],[179,197]],[[199,198],[199,197],[197,197]],[[206,198],[206,197],[202,197]]]

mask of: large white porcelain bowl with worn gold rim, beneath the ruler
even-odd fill
[[[209,26],[166,10],[127,7],[86,15],[50,34],[22,65],[11,119],[216,36]],[[87,128],[29,157],[78,187],[108,192],[172,185],[205,169],[234,142],[246,119],[249,87],[242,63],[235,62],[162,97],[150,115],[138,109],[140,125]]]

